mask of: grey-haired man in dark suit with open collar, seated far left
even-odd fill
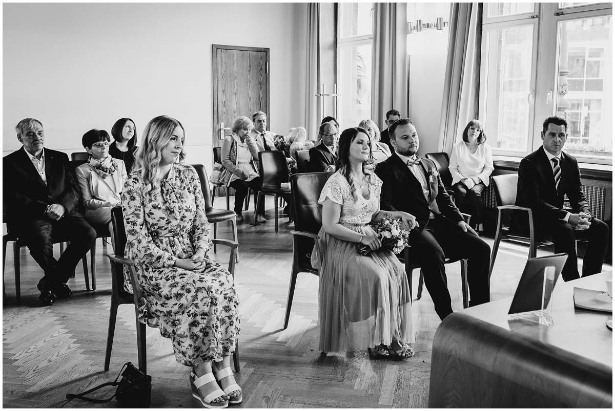
[[[4,201],[8,221],[17,237],[44,270],[39,299],[45,305],[71,295],[66,281],[77,262],[90,249],[96,232],[74,210],[79,198],[68,156],[44,148],[42,123],[23,119],[15,127],[23,147],[4,157]],[[62,235],[70,244],[58,260],[52,237]]]

